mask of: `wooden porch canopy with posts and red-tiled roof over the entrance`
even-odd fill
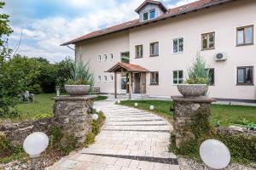
[[[131,99],[131,91],[132,91],[132,82],[131,82],[131,75],[132,72],[148,72],[147,69],[143,68],[140,65],[132,65],[128,63],[121,63],[118,62],[116,65],[113,65],[108,71],[106,72],[113,72],[114,73],[114,98],[117,99],[117,73],[129,73],[129,99]]]

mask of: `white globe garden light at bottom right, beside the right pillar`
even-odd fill
[[[208,139],[201,144],[200,156],[201,160],[213,169],[222,169],[230,163],[230,150],[216,139]]]

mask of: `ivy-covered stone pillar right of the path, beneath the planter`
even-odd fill
[[[210,107],[215,99],[183,98],[183,96],[172,96],[172,99],[174,109],[172,138],[174,138],[177,148],[195,139],[198,133],[209,133]]]

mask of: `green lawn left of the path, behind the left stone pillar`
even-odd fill
[[[36,94],[34,103],[16,105],[14,110],[19,113],[19,117],[11,118],[11,121],[18,122],[20,120],[34,120],[53,116],[54,97],[55,94]],[[95,100],[98,101],[107,98],[106,96],[99,95]]]

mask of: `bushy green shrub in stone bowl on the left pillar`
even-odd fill
[[[64,88],[67,94],[72,96],[86,95],[89,94],[93,83],[94,77],[90,71],[89,64],[84,64],[80,60],[73,63],[70,78],[67,80]]]

